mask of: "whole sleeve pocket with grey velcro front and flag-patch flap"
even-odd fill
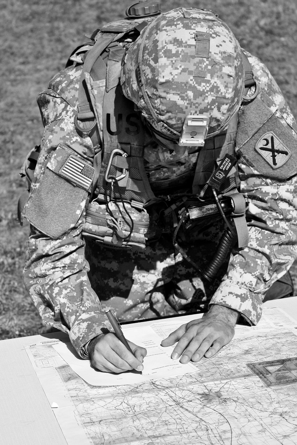
[[[42,168],[23,216],[50,238],[61,238],[80,218],[93,178],[90,163],[59,144]]]

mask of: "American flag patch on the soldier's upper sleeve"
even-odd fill
[[[94,168],[79,159],[70,156],[61,168],[60,173],[75,182],[78,186],[88,189],[94,177]]]

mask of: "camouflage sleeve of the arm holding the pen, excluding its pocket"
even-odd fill
[[[45,131],[32,189],[45,161],[61,142],[90,158],[93,150],[90,138],[80,137],[74,129],[73,108],[55,91],[46,90],[37,100]],[[83,345],[110,325],[87,276],[89,265],[81,238],[84,209],[79,213],[78,222],[60,239],[51,239],[32,227],[26,248],[24,283],[42,320],[69,333],[77,352],[87,358]]]

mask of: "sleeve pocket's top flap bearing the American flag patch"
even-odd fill
[[[91,190],[95,169],[67,146],[62,144],[57,146],[47,168],[73,185],[86,191]]]

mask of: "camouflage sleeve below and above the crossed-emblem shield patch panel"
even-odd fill
[[[277,105],[276,116],[297,138],[296,121],[281,90],[265,65],[247,55],[260,88]],[[266,291],[297,257],[297,177],[275,182],[252,171],[243,158],[238,165],[240,191],[250,200],[249,243],[244,250],[233,251],[227,275],[210,304],[236,309],[250,324],[257,324]]]

